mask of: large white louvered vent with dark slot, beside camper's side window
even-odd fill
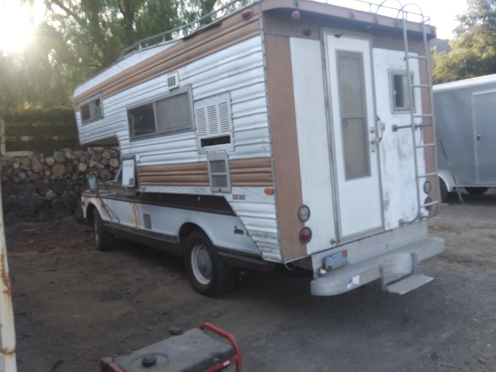
[[[234,149],[229,93],[195,102],[194,112],[200,151]]]

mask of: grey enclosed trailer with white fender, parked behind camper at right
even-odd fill
[[[442,199],[496,187],[496,75],[434,86]]]

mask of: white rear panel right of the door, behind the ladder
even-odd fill
[[[391,109],[390,69],[406,69],[405,53],[377,48],[374,48],[372,53],[377,97],[376,110],[381,122],[385,125],[379,145],[384,227],[386,230],[391,230],[399,226],[400,219],[408,221],[417,214],[412,132],[410,129],[392,131],[393,124],[411,124],[410,113],[393,113]],[[418,60],[410,60],[410,70],[413,71],[414,83],[420,84]],[[418,88],[415,88],[415,107],[417,114],[420,114],[422,100],[421,90]],[[418,121],[420,123],[420,119]],[[417,144],[423,143],[422,139],[422,132],[418,129],[415,139]],[[417,155],[419,171],[424,173],[424,151],[418,150]],[[424,181],[419,181],[419,185],[423,185]],[[422,188],[420,197],[422,201],[427,197]]]

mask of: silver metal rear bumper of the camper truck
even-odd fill
[[[441,253],[443,250],[443,239],[424,238],[318,277],[310,282],[311,294],[314,296],[335,296],[381,277],[385,283],[390,283],[412,273],[414,268],[413,254],[417,255],[420,262]]]

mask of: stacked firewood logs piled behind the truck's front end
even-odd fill
[[[82,217],[81,193],[86,175],[113,179],[120,166],[115,148],[62,149],[52,156],[0,158],[5,223],[45,222],[74,215]]]

